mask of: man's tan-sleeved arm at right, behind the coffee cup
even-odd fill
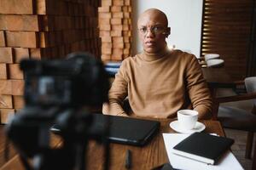
[[[186,81],[189,99],[194,110],[199,112],[199,118],[211,118],[212,97],[203,77],[201,65],[199,65],[194,55],[186,68]]]

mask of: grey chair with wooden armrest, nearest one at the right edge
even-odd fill
[[[247,147],[245,157],[251,158],[253,133],[256,132],[256,77],[247,77],[243,83],[247,89],[246,94],[238,94],[235,96],[220,98],[217,97],[213,100],[213,102],[215,105],[219,105],[220,103],[253,99],[252,113],[231,106],[219,106],[217,112],[218,121],[222,123],[223,127],[247,131]],[[241,84],[241,82],[237,83],[239,86],[241,86]]]

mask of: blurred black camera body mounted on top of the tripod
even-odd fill
[[[22,60],[26,105],[78,108],[108,100],[108,76],[90,54],[69,54],[65,60]]]

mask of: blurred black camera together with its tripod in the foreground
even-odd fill
[[[73,53],[67,59],[25,59],[20,69],[25,75],[25,107],[6,125],[6,132],[24,167],[85,169],[89,139],[108,148],[108,129],[95,132],[90,128],[90,108],[108,101],[108,74],[102,62],[91,54]],[[56,149],[49,146],[49,129],[54,124],[61,127],[63,141]]]

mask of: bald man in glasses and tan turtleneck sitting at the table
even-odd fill
[[[143,53],[122,62],[103,113],[129,115],[123,109],[128,96],[132,116],[172,118],[178,110],[194,109],[200,119],[209,118],[212,99],[201,66],[193,54],[168,50],[166,14],[150,8],[139,17],[137,27]]]

